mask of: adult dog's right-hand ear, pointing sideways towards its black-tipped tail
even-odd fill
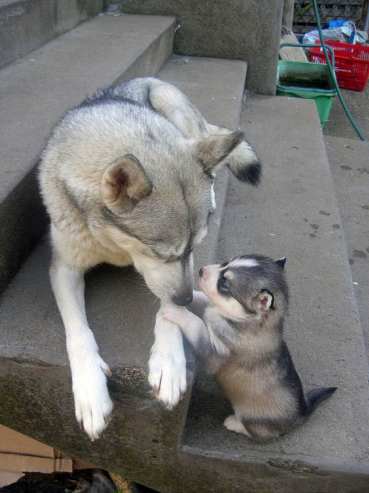
[[[225,159],[244,139],[242,132],[212,135],[196,143],[195,155],[206,173]]]

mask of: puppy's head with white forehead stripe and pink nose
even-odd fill
[[[200,269],[200,288],[229,320],[262,322],[271,314],[281,317],[288,304],[285,263],[285,257],[243,255],[207,265]]]

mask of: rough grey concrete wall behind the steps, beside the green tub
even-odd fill
[[[122,11],[176,17],[174,52],[246,60],[246,86],[275,94],[283,0],[119,0]]]

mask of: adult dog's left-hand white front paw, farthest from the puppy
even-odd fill
[[[71,363],[71,368],[77,422],[94,441],[106,428],[113,409],[106,384],[111,371],[98,352]]]

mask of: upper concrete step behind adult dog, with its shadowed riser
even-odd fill
[[[0,292],[44,232],[34,165],[63,111],[98,87],[155,75],[174,19],[98,16],[0,70]]]

